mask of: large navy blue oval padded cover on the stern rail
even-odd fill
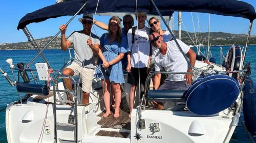
[[[187,108],[197,115],[213,115],[232,105],[239,95],[239,83],[223,74],[207,74],[184,93]]]

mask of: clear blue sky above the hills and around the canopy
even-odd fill
[[[214,1],[214,0],[213,0]],[[256,7],[256,1],[254,0],[243,0],[251,4],[254,8]],[[54,0],[23,0],[23,1],[1,1],[0,9],[0,43],[15,43],[27,41],[27,38],[22,30],[17,31],[18,21],[29,12],[33,12],[37,9],[54,4]],[[199,25],[201,32],[208,31],[208,14],[198,14]],[[81,30],[82,25],[77,20],[81,17],[78,15],[69,25],[67,35],[73,31]],[[96,16],[97,20],[108,23],[110,17]],[[198,19],[197,14],[193,14],[195,30],[198,31]],[[48,36],[54,36],[58,32],[58,27],[66,23],[70,19],[70,16],[58,17],[55,19],[48,19],[40,23],[32,23],[28,25],[28,28],[35,39],[44,38]],[[235,34],[247,34],[249,20],[244,18],[227,17],[227,16],[210,16],[210,31],[211,32],[226,32]],[[182,13],[182,20],[188,32],[194,32],[193,22],[191,13]],[[174,15],[174,23],[177,22],[177,13]],[[256,22],[252,26],[252,34],[256,35]],[[163,24],[162,24],[163,26]],[[100,30],[95,26],[96,33],[101,36],[105,31]],[[163,26],[163,29],[165,27]],[[177,26],[174,27],[177,30]],[[185,30],[182,24],[182,30]],[[94,30],[93,30],[94,32]],[[95,32],[94,32],[95,33]]]

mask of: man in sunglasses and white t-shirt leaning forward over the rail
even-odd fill
[[[196,63],[196,53],[181,40],[177,39],[177,41],[183,52],[188,55],[189,63],[194,67]],[[159,54],[155,56],[155,71],[160,71],[164,68],[167,72],[193,72],[192,69],[188,68],[187,61],[174,40],[164,42],[162,35],[152,33],[150,35],[150,42],[160,51]],[[157,73],[154,77],[155,90],[187,90],[193,78],[192,74],[168,74],[168,77],[160,86],[160,75],[161,73]],[[163,108],[163,104],[160,104],[161,105],[158,105],[158,107],[162,106]]]

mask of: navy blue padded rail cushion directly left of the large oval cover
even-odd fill
[[[186,90],[147,90],[147,101],[185,101],[183,94]]]

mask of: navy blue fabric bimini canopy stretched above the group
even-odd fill
[[[59,16],[75,15],[85,2],[86,0],[73,0],[28,13],[20,19],[17,29],[23,29],[26,25],[32,22],[40,22]],[[80,14],[95,13],[98,1],[87,0],[87,2],[88,4]],[[170,16],[174,11],[182,11],[243,17],[251,21],[256,18],[255,10],[251,5],[237,0],[164,0],[155,1],[155,4],[163,16]],[[135,11],[135,0],[99,0],[97,9],[97,13]],[[138,11],[158,15],[150,0],[138,1]]]

